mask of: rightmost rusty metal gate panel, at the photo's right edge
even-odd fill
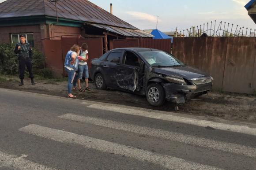
[[[256,92],[256,38],[229,38],[222,90]]]

